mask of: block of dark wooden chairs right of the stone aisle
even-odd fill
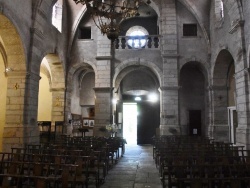
[[[153,157],[163,187],[248,188],[250,150],[203,137],[161,136]]]

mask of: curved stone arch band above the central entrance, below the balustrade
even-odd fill
[[[150,70],[152,70],[152,72],[156,75],[158,82],[160,85],[162,85],[162,70],[157,67],[154,63],[152,62],[148,62],[144,59],[136,59],[136,58],[131,58],[131,59],[127,59],[125,61],[123,61],[121,64],[119,64],[116,68],[115,68],[115,74],[113,77],[113,87],[117,88],[118,85],[120,84],[122,78],[125,76],[121,76],[123,74],[121,74],[121,72],[127,68],[127,67],[131,67],[131,66],[145,66],[148,67]]]

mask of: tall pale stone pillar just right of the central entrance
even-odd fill
[[[161,1],[161,47],[163,83],[161,90],[161,135],[180,134],[178,96],[177,16],[174,0]]]

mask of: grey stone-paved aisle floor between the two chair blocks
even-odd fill
[[[152,152],[152,145],[126,145],[100,188],[162,188]]]

